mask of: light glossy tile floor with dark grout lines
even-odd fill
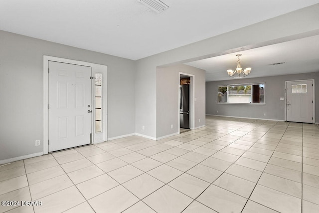
[[[317,125],[206,117],[159,141],[131,136],[0,166],[8,213],[318,213]]]

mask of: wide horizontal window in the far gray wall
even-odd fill
[[[265,103],[265,83],[219,86],[217,103]]]

